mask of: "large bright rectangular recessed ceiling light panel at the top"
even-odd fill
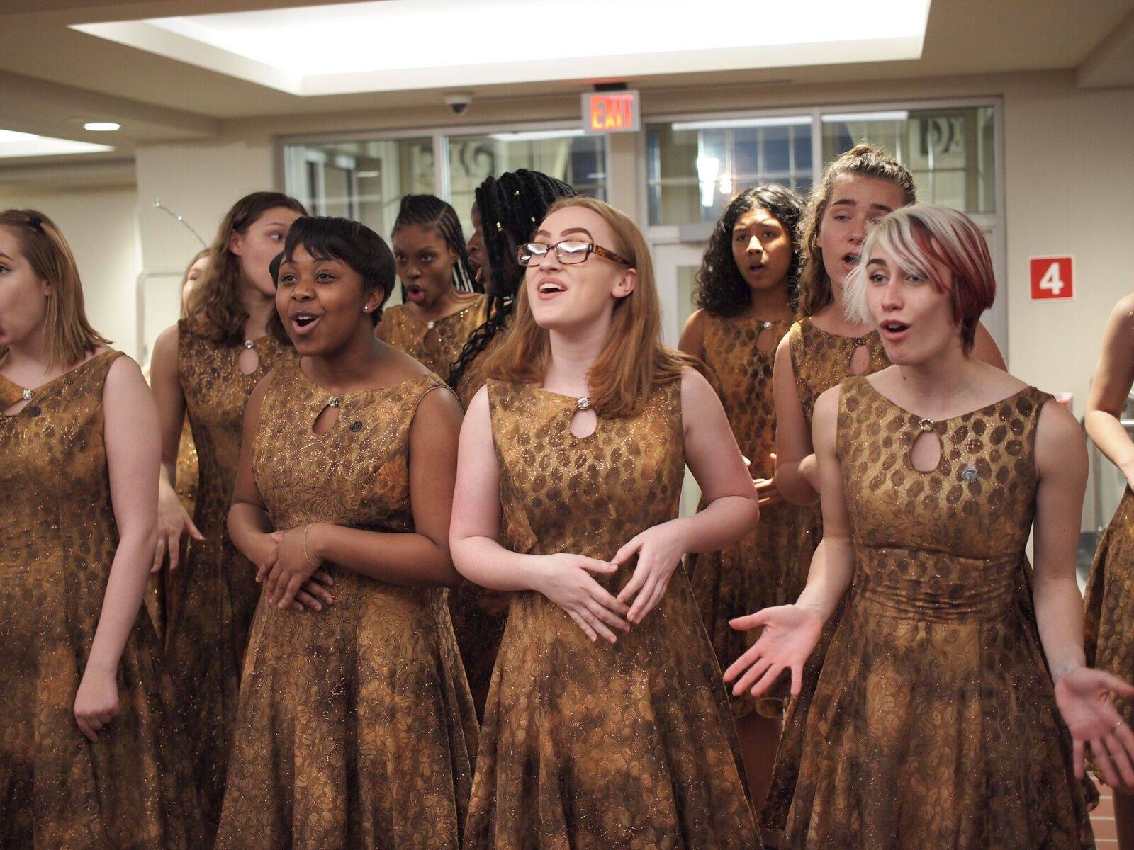
[[[531,0],[370,0],[71,28],[282,92],[322,95],[919,59],[929,7],[793,0],[762,6],[756,25],[730,26],[721,22],[736,18],[735,0],[699,0],[695,15],[687,0],[542,0],[538,15]],[[500,43],[500,22],[518,37],[485,52]],[[421,32],[430,33],[429,50],[397,37],[374,49],[383,33]]]

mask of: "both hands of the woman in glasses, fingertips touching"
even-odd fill
[[[679,528],[663,522],[633,537],[609,561],[567,552],[543,555],[544,569],[533,589],[566,611],[591,640],[602,637],[613,644],[616,632],[628,632],[661,602],[685,551]],[[634,555],[634,575],[617,596],[591,576],[612,575]]]

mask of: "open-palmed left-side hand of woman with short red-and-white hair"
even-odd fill
[[[785,670],[792,671],[792,696],[799,696],[803,665],[823,632],[822,618],[799,605],[777,605],[737,617],[728,624],[738,631],[764,628],[760,639],[725,671],[726,682],[739,677],[733,686],[733,696],[738,697],[748,690],[752,696],[759,697]],[[742,672],[744,675],[741,675]]]

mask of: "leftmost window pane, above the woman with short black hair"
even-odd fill
[[[433,194],[432,138],[284,147],[285,187],[314,215],[356,219],[389,238],[403,195]]]

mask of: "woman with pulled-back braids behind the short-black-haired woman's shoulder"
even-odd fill
[[[457,212],[433,195],[406,195],[390,236],[405,304],[389,307],[378,337],[448,380],[452,362],[488,318]]]

